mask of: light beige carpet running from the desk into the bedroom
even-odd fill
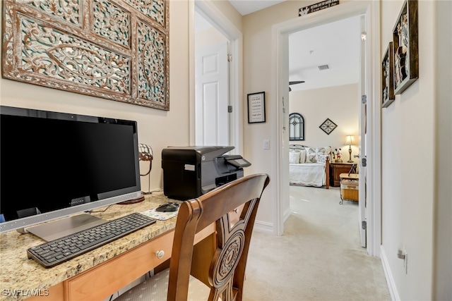
[[[290,186],[282,236],[254,232],[244,300],[391,300],[379,258],[359,245],[358,206],[338,188]]]

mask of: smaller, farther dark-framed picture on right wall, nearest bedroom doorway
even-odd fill
[[[394,94],[394,65],[393,42],[389,42],[388,49],[381,62],[381,107],[389,106],[396,95]]]

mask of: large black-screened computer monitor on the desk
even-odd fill
[[[0,233],[141,197],[135,121],[0,114]]]

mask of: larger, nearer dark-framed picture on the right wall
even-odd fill
[[[419,77],[417,40],[417,0],[405,0],[393,28],[395,94],[401,94]]]

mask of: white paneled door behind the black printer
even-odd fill
[[[196,145],[230,145],[228,42],[196,48]]]

